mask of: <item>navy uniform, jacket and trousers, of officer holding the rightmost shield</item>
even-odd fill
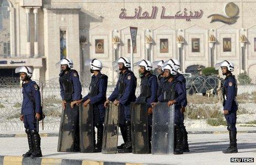
[[[158,102],[168,102],[170,100],[175,100],[175,112],[174,112],[174,123],[183,124],[183,114],[180,112],[182,108],[182,103],[186,99],[186,94],[184,93],[182,83],[180,81],[174,80],[169,82],[166,79],[163,83],[163,88],[161,95],[158,97]]]

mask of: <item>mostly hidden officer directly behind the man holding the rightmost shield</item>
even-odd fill
[[[165,64],[172,64],[177,70],[180,69],[180,62],[177,59],[169,59],[168,61],[163,63],[163,65],[165,65]],[[184,75],[177,72],[177,74],[175,75],[175,79],[179,80],[182,83],[183,91],[186,95],[186,79],[185,79]],[[183,123],[184,123],[185,107],[188,105],[187,99],[183,100],[181,105],[182,105],[182,108],[180,109],[180,111],[182,112]],[[184,126],[184,128],[183,128],[183,147],[184,147],[183,152],[189,152],[188,132],[186,131],[186,127],[184,124],[183,124],[183,126]]]

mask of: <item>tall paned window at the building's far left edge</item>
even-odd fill
[[[7,0],[0,0],[0,57],[10,57],[10,13]]]

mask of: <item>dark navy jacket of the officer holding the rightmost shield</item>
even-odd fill
[[[175,108],[179,108],[185,99],[186,95],[180,81],[173,80],[172,82],[169,82],[168,79],[164,81],[161,95],[158,97],[158,102],[168,102],[170,100],[175,100]]]

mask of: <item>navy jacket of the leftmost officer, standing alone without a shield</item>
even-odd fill
[[[42,112],[42,109],[40,108],[41,94],[39,86],[35,81],[29,80],[28,83],[23,84],[22,94],[23,102],[21,114],[28,115]]]

